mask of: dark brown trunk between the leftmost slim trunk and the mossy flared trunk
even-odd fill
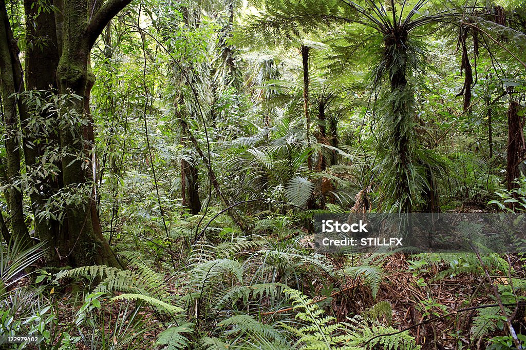
[[[55,13],[39,11],[38,0],[25,0],[24,9],[26,15],[26,89],[42,91],[41,98],[51,101],[57,92],[56,73],[58,67],[58,39],[55,22]],[[43,110],[39,118],[42,122],[57,120],[56,111]],[[40,175],[36,168],[41,164],[39,157],[44,156],[47,149],[55,149],[59,145],[59,136],[56,128],[46,128],[44,123],[41,127],[30,128],[29,118],[22,118],[24,133],[24,155],[27,173],[32,174],[32,183],[38,186],[38,191],[30,194],[33,214],[35,216],[35,234],[41,240],[54,242],[58,240],[60,222],[50,218],[45,220],[38,214],[44,210],[49,198],[62,187],[60,174]],[[38,125],[38,123],[37,123]],[[37,142],[43,135],[47,134],[46,142]],[[49,157],[48,157],[49,158]],[[61,168],[60,162],[54,164]],[[59,263],[57,254],[53,249],[47,251],[47,263],[57,265]]]

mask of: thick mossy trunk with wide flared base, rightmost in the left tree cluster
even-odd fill
[[[60,145],[67,155],[62,162],[64,190],[79,196],[77,203],[66,207],[66,217],[60,239],[55,242],[58,257],[72,266],[106,264],[121,267],[102,235],[93,192],[92,160],[87,150],[92,148],[93,122],[89,113],[89,93],[94,77],[88,70],[89,54],[96,37],[90,36],[86,24],[87,2],[65,0],[63,4],[62,56],[58,63],[57,81],[60,94],[74,93],[62,114]],[[110,18],[109,18],[110,19]],[[109,20],[108,19],[108,20]],[[97,18],[93,19],[94,21]],[[99,24],[102,25],[102,24]],[[105,24],[104,24],[105,26]],[[103,28],[95,28],[98,34]],[[97,36],[98,36],[97,34]],[[64,118],[80,118],[84,125],[68,123]],[[86,166],[87,165],[87,166]]]

